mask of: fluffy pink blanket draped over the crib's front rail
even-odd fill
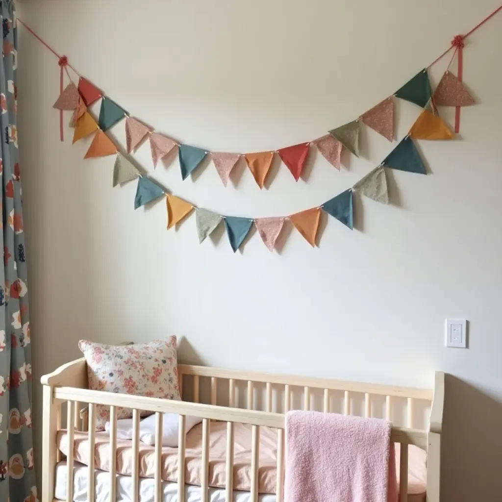
[[[285,502],[397,502],[391,423],[331,413],[286,416]]]

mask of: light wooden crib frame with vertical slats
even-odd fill
[[[156,440],[155,440],[155,502],[161,502],[161,458],[162,458],[162,413],[175,413],[180,415],[178,439],[178,465],[185,461],[185,418],[193,416],[202,418],[202,502],[208,502],[208,464],[209,464],[209,427],[211,420],[227,423],[227,452],[226,452],[226,482],[225,500],[232,501],[232,472],[233,472],[233,424],[243,423],[252,426],[252,464],[251,464],[251,500],[258,500],[258,467],[260,443],[260,426],[275,427],[277,434],[277,502],[284,499],[284,428],[285,415],[292,408],[292,388],[303,389],[303,409],[311,409],[311,392],[323,392],[323,411],[330,412],[330,394],[333,391],[343,392],[343,413],[351,414],[351,393],[360,393],[364,396],[364,416],[371,415],[371,396],[385,396],[385,415],[391,418],[393,398],[406,398],[407,427],[392,427],[391,440],[400,443],[400,502],[408,499],[408,445],[416,445],[427,450],[427,502],[439,502],[440,497],[440,442],[443,422],[444,401],[444,373],[435,373],[434,390],[415,389],[407,387],[394,387],[359,382],[345,382],[341,380],[308,378],[302,376],[277,375],[252,371],[220,369],[206,366],[193,366],[178,364],[180,390],[183,391],[184,381],[191,380],[193,388],[193,402],[169,401],[157,398],[114,394],[109,392],[91,391],[87,389],[87,365],[85,358],[77,359],[60,366],[54,372],[42,376],[43,385],[43,443],[42,443],[42,502],[55,502],[54,485],[56,464],[61,460],[61,453],[57,449],[56,436],[61,429],[61,405],[67,405],[67,430],[68,443],[73,443],[74,431],[88,431],[89,454],[88,465],[88,495],[87,501],[94,502],[94,442],[96,405],[110,406],[110,500],[115,502],[115,450],[116,450],[116,408],[128,407],[133,411],[133,502],[138,502],[139,487],[139,410],[148,410],[156,413]],[[188,379],[184,377],[189,376]],[[200,381],[210,379],[210,404],[199,403]],[[228,381],[228,406],[218,406],[218,380]],[[246,404],[247,409],[236,408],[235,390],[236,383],[247,382]],[[255,384],[265,386],[265,399],[263,408],[255,410],[254,391]],[[273,386],[284,390],[284,400],[281,403],[283,413],[273,412]],[[187,394],[187,393],[186,393]],[[427,429],[414,429],[413,406],[415,400],[430,402],[430,420]],[[260,400],[257,400],[260,401]],[[84,424],[80,426],[80,404],[88,406],[88,413]],[[66,458],[68,477],[73,472],[73,449],[70,448]],[[280,475],[279,473],[282,473]],[[185,470],[178,469],[178,502],[185,502]],[[73,483],[67,483],[67,501],[73,500]]]

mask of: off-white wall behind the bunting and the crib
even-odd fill
[[[133,115],[189,144],[253,152],[353,119],[497,5],[24,0],[18,11]],[[59,142],[51,108],[57,59],[20,32],[37,380],[77,357],[80,338],[113,343],[171,333],[186,338],[181,359],[211,365],[413,386],[430,386],[442,369],[467,382],[449,381],[443,498],[502,490],[495,475],[502,466],[502,14],[467,42],[464,81],[478,104],[462,111],[461,137],[420,144],[432,175],[391,173],[392,205],[358,200],[353,232],[326,218],[316,249],[288,229],[281,254],[269,253],[256,233],[242,254],[233,255],[221,232],[216,243],[199,245],[194,216],[167,232],[164,203],[135,211],[134,183],[111,188],[112,158],[84,162],[89,142],[71,146],[68,130]],[[435,83],[447,61],[434,68]],[[402,138],[419,109],[398,102],[397,111]],[[124,144],[123,123],[114,133]],[[147,144],[136,158],[181,197],[258,217],[324,202],[392,148],[369,130],[362,143],[364,155],[352,157],[348,170],[317,155],[306,183],[281,166],[263,191],[242,166],[237,187],[225,189],[209,163],[182,182],[176,160],[153,172]],[[444,347],[447,316],[470,321],[468,350]]]

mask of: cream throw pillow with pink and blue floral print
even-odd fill
[[[80,340],[87,361],[89,389],[179,401],[176,336],[134,345],[103,345]],[[146,417],[153,412],[142,411]],[[117,419],[131,418],[133,410],[117,408]],[[110,407],[96,406],[96,430],[104,430]]]

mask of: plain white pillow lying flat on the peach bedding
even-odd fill
[[[186,433],[197,424],[201,418],[186,417]],[[104,430],[110,432],[110,423],[106,422]],[[179,415],[164,413],[162,417],[162,446],[178,447]],[[133,419],[126,418],[117,420],[117,439],[133,439]],[[140,422],[140,441],[149,445],[155,445],[155,415],[144,418]]]

